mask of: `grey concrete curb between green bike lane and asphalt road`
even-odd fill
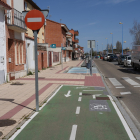
[[[110,91],[110,89],[106,85],[106,82],[105,82],[105,80],[104,80],[104,78],[102,76],[102,73],[101,73],[100,69],[98,68],[98,66],[96,65],[96,63],[95,63],[95,66],[98,69],[99,73],[101,74],[102,81],[103,81],[103,83],[104,83],[104,85],[105,85],[105,87],[106,87],[109,95],[111,95],[111,97],[115,101],[115,103],[118,106],[120,112],[122,113],[124,119],[126,120],[128,126],[130,127],[132,133],[134,134],[134,136],[136,137],[137,140],[140,140],[140,132],[139,132],[139,130],[137,129],[137,127],[135,126],[135,124],[133,123],[133,121],[131,120],[131,118],[129,117],[128,113],[122,107],[122,105],[120,104],[119,100],[115,96],[113,96],[112,92]]]

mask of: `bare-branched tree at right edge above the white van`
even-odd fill
[[[129,32],[133,36],[133,44],[140,45],[140,23],[134,20],[133,27]]]

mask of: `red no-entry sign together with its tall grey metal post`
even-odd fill
[[[39,111],[39,96],[38,96],[38,54],[37,54],[37,34],[40,28],[44,25],[45,18],[49,10],[39,11],[23,11],[25,16],[25,24],[34,33],[34,47],[35,47],[35,93],[36,93],[36,111]]]

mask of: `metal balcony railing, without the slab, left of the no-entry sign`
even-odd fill
[[[21,12],[17,11],[16,9],[12,9],[7,13],[7,24],[9,26],[14,25],[16,27],[22,28],[26,30],[27,27],[24,22],[24,16]]]

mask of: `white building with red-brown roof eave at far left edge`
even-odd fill
[[[5,1],[0,0],[0,84],[7,81],[5,10],[11,9]]]

